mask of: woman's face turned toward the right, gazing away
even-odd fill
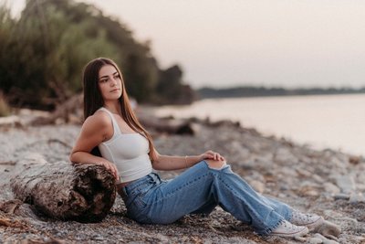
[[[118,100],[122,93],[121,77],[112,65],[104,65],[99,70],[99,89],[104,101]]]

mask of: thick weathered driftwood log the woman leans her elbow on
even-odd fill
[[[24,164],[10,183],[17,199],[62,220],[100,221],[116,197],[115,178],[95,164]]]

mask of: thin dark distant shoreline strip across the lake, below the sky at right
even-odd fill
[[[198,94],[198,99],[250,98],[250,97],[363,94],[365,93],[365,87],[361,89],[350,89],[350,88],[284,89],[284,88],[250,87],[250,86],[214,89],[206,87],[196,90],[196,92]]]

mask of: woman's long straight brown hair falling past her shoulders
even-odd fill
[[[148,133],[141,123],[138,121],[134,111],[131,109],[130,106],[130,99],[128,98],[127,90],[125,89],[124,80],[122,79],[122,75],[120,69],[118,68],[117,64],[109,59],[109,58],[95,58],[86,65],[82,81],[84,87],[84,120],[86,120],[89,116],[94,114],[95,111],[99,110],[104,105],[104,100],[101,96],[101,92],[99,90],[99,70],[105,66],[111,65],[115,69],[117,69],[120,79],[121,79],[121,96],[120,96],[120,109],[121,109],[121,117],[133,131],[137,133],[141,133],[148,141],[150,147],[150,158],[151,161],[155,160],[157,155],[154,150],[153,141],[151,138],[151,134]],[[93,149],[91,152],[92,154],[99,154],[95,152],[96,150]]]

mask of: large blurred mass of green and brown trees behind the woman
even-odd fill
[[[53,109],[82,89],[81,70],[97,57],[120,65],[127,90],[137,101],[163,97],[169,103],[170,96],[157,89],[167,83],[160,78],[149,43],[136,41],[128,27],[95,6],[28,0],[18,19],[0,6],[0,90],[13,106]]]

